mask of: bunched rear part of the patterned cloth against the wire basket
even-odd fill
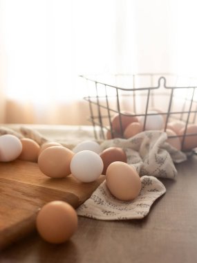
[[[187,160],[187,156],[166,143],[167,134],[162,131],[142,131],[129,139],[104,140],[103,149],[121,147],[126,152],[127,163],[135,166],[140,176],[149,175],[174,179],[177,170],[174,163]]]

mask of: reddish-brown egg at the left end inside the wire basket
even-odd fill
[[[122,115],[126,114],[126,115]],[[133,112],[126,112],[122,111],[121,114],[115,114],[111,120],[111,125],[114,131],[118,134],[121,134],[121,127],[120,127],[120,119],[122,122],[122,131],[130,124],[130,123],[138,123],[138,118],[135,116]]]

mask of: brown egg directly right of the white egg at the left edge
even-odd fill
[[[30,138],[21,138],[22,152],[19,155],[20,160],[37,162],[40,146],[35,140]]]

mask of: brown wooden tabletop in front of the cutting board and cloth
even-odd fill
[[[1,251],[0,262],[197,262],[197,156],[177,164],[176,180],[140,220],[79,217],[77,232],[61,245],[37,232]]]

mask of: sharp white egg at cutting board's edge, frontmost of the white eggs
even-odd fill
[[[93,151],[77,152],[71,160],[71,173],[84,183],[95,181],[103,170],[102,158]]]

